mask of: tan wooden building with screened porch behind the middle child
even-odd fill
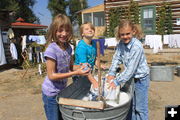
[[[104,4],[81,10],[78,14],[81,14],[82,23],[91,22],[95,26],[95,38],[103,36],[105,31]]]

